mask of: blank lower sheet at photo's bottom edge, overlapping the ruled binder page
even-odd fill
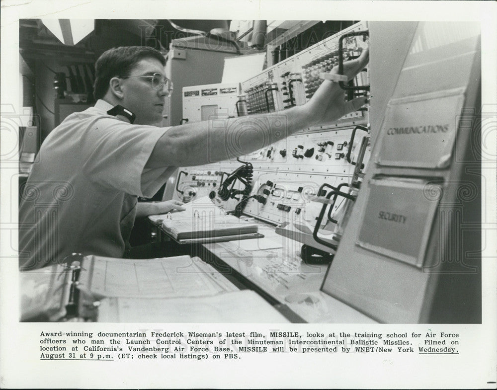
[[[98,308],[100,322],[289,322],[251,290],[201,298],[110,298]]]

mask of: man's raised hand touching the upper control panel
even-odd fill
[[[368,61],[369,49],[366,48],[358,58],[343,64],[343,75],[347,76],[348,80],[351,80],[364,69]],[[333,67],[331,73],[337,74],[338,66]],[[366,97],[358,97],[345,102],[343,93],[343,89],[340,88],[338,82],[330,80],[322,82],[311,100],[304,105],[304,108],[308,110],[307,115],[309,115],[313,126],[336,121],[343,115],[358,110],[366,103]]]

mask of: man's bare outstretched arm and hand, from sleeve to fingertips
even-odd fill
[[[343,74],[348,79],[354,78],[368,59],[369,52],[365,49],[359,58],[343,64]],[[334,67],[331,72],[337,70]],[[365,97],[345,102],[338,83],[324,80],[306,104],[285,111],[231,118],[223,125],[216,121],[216,126],[211,126],[210,121],[175,126],[159,139],[146,167],[202,165],[246,155],[276,141],[268,134],[278,118],[285,119],[279,121],[284,126],[280,131],[283,137],[288,137],[299,130],[335,121],[365,103]],[[231,140],[237,142],[236,148],[230,145]]]

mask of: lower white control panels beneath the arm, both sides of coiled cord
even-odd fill
[[[360,156],[363,144],[365,153]],[[369,157],[369,134],[362,126],[298,134],[242,156],[240,161],[253,167],[244,214],[275,225],[300,221],[312,229],[322,207],[317,198],[327,194],[326,190],[320,192],[320,187],[325,183],[349,187],[354,171],[363,171]],[[173,198],[189,202],[208,196],[242,165],[240,161],[180,168]],[[339,215],[344,204],[345,200],[339,199],[330,215]],[[322,227],[327,225],[330,221],[323,221]]]

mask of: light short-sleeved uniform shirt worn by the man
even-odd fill
[[[145,168],[168,130],[107,114],[109,103],[71,114],[40,152],[19,206],[19,265],[40,268],[73,252],[125,256],[137,197],[152,197],[174,167]]]

